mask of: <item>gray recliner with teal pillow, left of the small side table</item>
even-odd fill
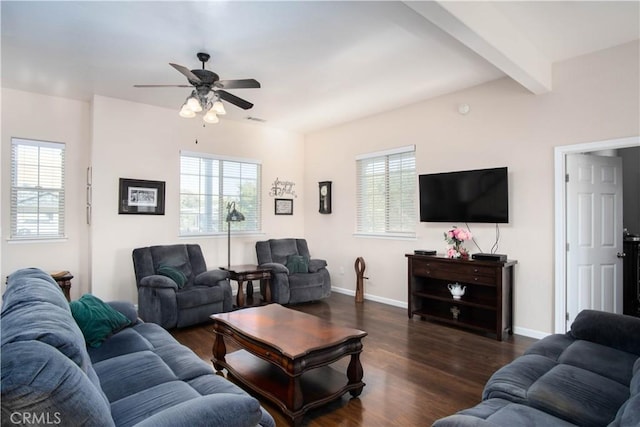
[[[165,329],[209,320],[231,311],[229,273],[207,271],[199,245],[160,245],[133,250],[138,314]]]

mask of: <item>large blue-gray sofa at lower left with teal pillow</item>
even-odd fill
[[[132,304],[109,306],[131,324],[88,347],[48,274],[24,269],[9,276],[2,425],[275,427],[258,400],[163,328],[137,319]]]

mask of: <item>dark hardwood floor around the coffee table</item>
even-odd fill
[[[511,335],[497,341],[463,329],[409,319],[407,310],[333,293],[330,298],[291,306],[337,325],[362,329],[362,394],[309,411],[304,426],[430,426],[438,418],[474,406],[491,374],[536,340]],[[282,333],[286,334],[286,325]],[[173,336],[211,364],[211,325],[172,331]],[[236,350],[227,343],[227,351]],[[348,358],[334,366],[344,369]],[[213,369],[213,367],[212,367]],[[287,420],[268,401],[261,402],[278,426]]]

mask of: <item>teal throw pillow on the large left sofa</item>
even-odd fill
[[[91,294],[69,303],[71,314],[91,347],[100,347],[110,335],[131,324],[122,313]]]

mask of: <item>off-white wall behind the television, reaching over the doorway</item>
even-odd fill
[[[418,173],[509,168],[510,222],[500,226],[497,252],[518,260],[515,329],[552,332],[553,147],[640,134],[638,51],[634,42],[557,64],[554,90],[545,95],[505,78],[307,135],[305,192],[317,194],[318,181],[333,181],[333,213],[319,214],[317,200],[308,197],[305,234],[316,253],[327,255],[334,284],[355,290],[353,263],[362,256],[369,277],[365,294],[406,306],[404,254],[443,251],[443,232],[464,226],[420,223],[415,241],[352,235],[355,156],[415,144]],[[457,112],[460,103],[471,106],[468,115]],[[494,225],[470,226],[489,252]]]

